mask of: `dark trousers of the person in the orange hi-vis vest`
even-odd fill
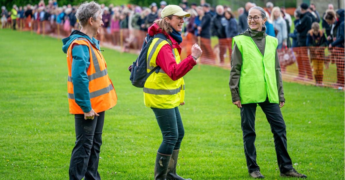
[[[83,114],[75,115],[76,145],[72,150],[69,179],[101,179],[98,169],[99,152],[102,145],[104,111],[92,119]]]

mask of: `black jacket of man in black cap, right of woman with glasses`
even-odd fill
[[[306,12],[300,15],[299,24],[295,27],[297,30],[297,44],[298,47],[306,46],[307,33],[312,29],[313,20],[309,16],[310,12]],[[313,15],[313,14],[311,14]]]

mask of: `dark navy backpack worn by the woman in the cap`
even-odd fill
[[[149,46],[154,38],[160,38],[163,40],[168,41],[171,48],[172,45],[170,41],[167,39],[167,36],[165,36],[162,33],[158,33],[154,36],[150,36],[149,34],[146,34],[147,37],[144,40],[144,43],[142,43],[140,54],[135,62],[133,62],[132,65],[128,67],[128,70],[130,72],[129,80],[132,82],[132,85],[135,87],[144,87],[144,84],[146,82],[146,79],[154,72],[158,73],[160,70],[159,66],[156,66],[153,68],[149,73],[147,73],[147,52],[149,49]],[[154,51],[154,50],[152,50]]]

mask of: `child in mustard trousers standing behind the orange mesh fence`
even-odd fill
[[[310,59],[313,63],[316,86],[323,86],[324,50],[327,43],[325,34],[320,30],[320,25],[317,22],[313,22],[312,29],[307,34],[307,46],[309,47]]]

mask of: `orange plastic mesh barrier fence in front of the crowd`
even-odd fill
[[[25,21],[23,30],[30,30],[30,21]],[[33,32],[65,38],[74,27],[66,27],[50,21],[31,21]],[[102,28],[97,39],[102,45],[122,52],[139,53],[146,37],[144,31],[136,29]],[[201,64],[231,68],[231,38],[206,39],[191,33],[183,35],[181,56],[191,54],[191,46],[199,44],[203,54],[198,60]],[[278,56],[285,81],[344,88],[344,48],[334,47],[294,47],[279,49]],[[134,60],[133,60],[134,61]],[[130,63],[130,62],[129,62]]]

